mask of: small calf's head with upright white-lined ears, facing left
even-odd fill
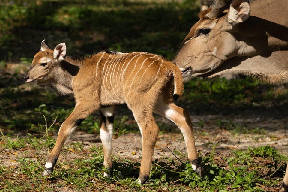
[[[53,78],[53,70],[59,62],[66,56],[65,43],[58,44],[54,50],[49,49],[45,40],[41,43],[41,49],[35,54],[31,68],[25,75],[26,83],[45,85],[47,81]]]

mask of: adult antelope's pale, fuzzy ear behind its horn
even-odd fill
[[[228,22],[232,25],[244,22],[250,16],[248,0],[233,0],[228,11]]]

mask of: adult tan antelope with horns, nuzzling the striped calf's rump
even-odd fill
[[[173,61],[184,81],[229,73],[288,81],[287,12],[287,0],[258,0],[251,6],[248,0],[216,0],[199,13]],[[288,191],[288,167],[280,191]]]

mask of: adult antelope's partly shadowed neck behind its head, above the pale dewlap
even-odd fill
[[[287,50],[288,16],[284,14],[287,9],[287,3],[280,0],[253,2],[249,19],[233,31],[240,42],[238,54],[253,56]]]

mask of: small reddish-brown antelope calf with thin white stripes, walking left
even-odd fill
[[[50,85],[61,95],[73,93],[76,105],[59,129],[57,141],[50,153],[43,175],[52,173],[67,137],[91,113],[100,109],[100,137],[104,150],[104,166],[112,174],[111,140],[114,105],[126,103],[133,112],[142,135],[142,161],[139,182],[149,177],[152,155],[159,127],[153,112],[173,121],[182,131],[188,158],[201,176],[203,168],[195,148],[190,115],[176,106],[183,92],[182,73],[176,65],[163,57],[146,52],[120,53],[102,51],[90,57],[66,57],[65,43],[54,50],[45,40],[34,56],[25,82]],[[173,97],[172,97],[173,95]]]

